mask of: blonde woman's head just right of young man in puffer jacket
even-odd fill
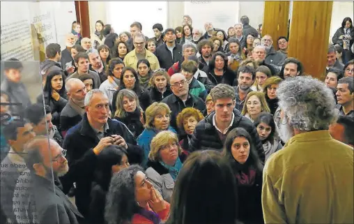
[[[270,112],[268,103],[265,101],[265,94],[258,91],[249,92],[241,114],[254,122],[261,112]]]

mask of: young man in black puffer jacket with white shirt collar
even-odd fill
[[[245,128],[252,137],[259,158],[265,161],[263,144],[252,121],[243,117],[235,107],[235,91],[228,84],[217,84],[210,91],[215,112],[199,121],[190,142],[190,151],[215,149],[222,151],[227,134],[233,128]]]

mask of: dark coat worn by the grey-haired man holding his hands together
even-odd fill
[[[130,130],[114,119],[108,119],[108,130],[105,137],[111,135],[121,135],[128,144],[128,159],[130,163],[141,163],[143,151],[137,146]],[[88,123],[87,114],[76,126],[73,126],[66,133],[63,148],[67,149],[69,171],[63,177],[63,192],[68,193],[72,184],[76,183],[75,203],[77,209],[84,216],[88,216],[88,206],[90,204],[91,184],[93,172],[96,168],[97,156],[93,153],[93,148],[100,142],[95,131]]]

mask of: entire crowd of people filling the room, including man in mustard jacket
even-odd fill
[[[247,16],[152,29],[73,22],[36,102],[4,62],[1,223],[354,222],[351,18],[324,82]]]

